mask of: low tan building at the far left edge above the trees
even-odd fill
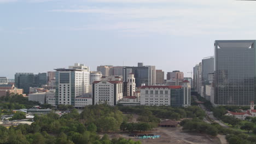
[[[14,85],[0,85],[0,97],[5,97],[8,94],[23,94],[23,89],[14,87]]]

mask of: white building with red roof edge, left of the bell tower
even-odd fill
[[[92,104],[114,106],[123,99],[123,81],[94,81],[92,83]]]

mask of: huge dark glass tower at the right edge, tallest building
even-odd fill
[[[249,105],[255,100],[255,40],[216,40],[214,104]]]

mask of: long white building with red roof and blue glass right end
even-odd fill
[[[141,87],[141,105],[187,106],[185,105],[183,100],[184,87],[183,86],[142,86]]]

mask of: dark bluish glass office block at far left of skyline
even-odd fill
[[[34,86],[34,74],[33,73],[16,73],[15,74],[15,86],[24,89],[24,93],[30,92],[30,87]]]

